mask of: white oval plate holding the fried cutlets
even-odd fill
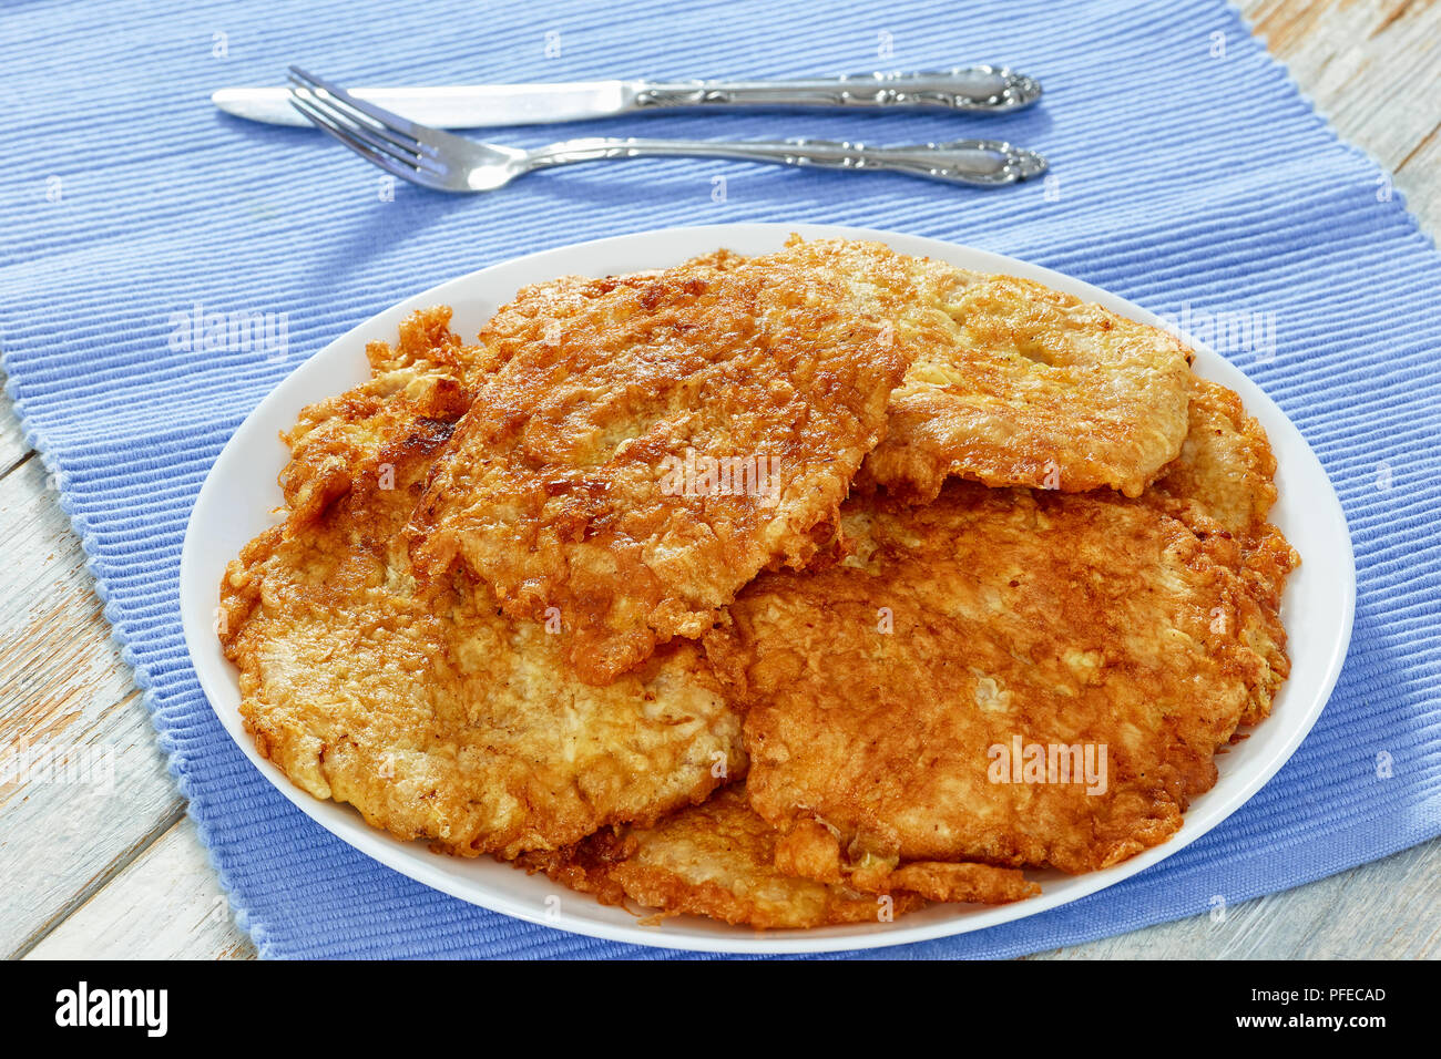
[[[1277,483],[1281,500],[1272,517],[1303,558],[1301,568],[1287,585],[1284,601],[1293,663],[1291,679],[1277,697],[1271,718],[1259,725],[1251,738],[1219,756],[1219,782],[1192,803],[1180,833],[1125,863],[1082,876],[1036,873],[1043,893],[1016,905],[997,908],[932,905],[892,924],[762,932],[695,916],[677,916],[654,926],[643,926],[624,909],[605,908],[592,898],[569,892],[562,896],[559,915],[555,915],[548,908],[546,898],[556,893],[556,886],[543,876],[527,876],[488,857],[454,859],[431,853],[419,841],[403,843],[392,839],[369,827],[350,807],[310,797],[256,754],[241,722],[235,669],[222,656],[212,631],[220,576],[226,562],[241,550],[241,546],[272,524],[269,511],[282,503],[275,477],[285,463],[287,452],[277,435],[295,422],[304,405],[340,393],[367,377],[365,359],[367,341],[393,340],[406,314],[434,304],[451,305],[454,330],[458,334],[473,336],[496,308],[525,284],[565,274],[601,277],[674,265],[720,246],[742,254],[762,254],[778,249],[791,232],[807,238],[878,239],[905,254],[928,255],[980,272],[1009,272],[1038,280],[1088,301],[1097,301],[1134,320],[1160,323],[1151,313],[1114,294],[996,254],[891,232],[831,225],[761,223],[641,232],[533,254],[441,284],[372,317],[297,367],[235,432],[200,490],[180,559],[184,637],[200,686],[219,715],[220,723],[255,768],[303,813],[357,850],[427,886],[546,926],[640,945],[684,949],[823,952],[901,945],[964,934],[1045,912],[1095,893],[1150,867],[1203,836],[1235,813],[1285,764],[1316,723],[1346,657],[1356,604],[1356,568],[1350,536],[1326,471],[1295,426],[1246,376],[1205,347],[1196,349],[1196,370],[1241,395],[1246,409],[1265,426],[1280,463]]]

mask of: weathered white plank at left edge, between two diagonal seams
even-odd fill
[[[0,954],[20,954],[183,811],[39,460],[0,478]]]

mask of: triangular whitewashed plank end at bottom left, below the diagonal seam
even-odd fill
[[[26,960],[254,960],[184,817],[75,909]]]

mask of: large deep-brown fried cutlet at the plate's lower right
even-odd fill
[[[856,497],[842,530],[844,560],[764,573],[731,614],[751,801],[782,853],[853,885],[1164,841],[1285,671],[1229,556],[1114,494],[955,481],[925,507]]]

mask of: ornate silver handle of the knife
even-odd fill
[[[942,107],[1004,112],[1040,98],[1040,82],[1004,66],[934,73],[855,73],[800,81],[640,82],[635,107]]]

